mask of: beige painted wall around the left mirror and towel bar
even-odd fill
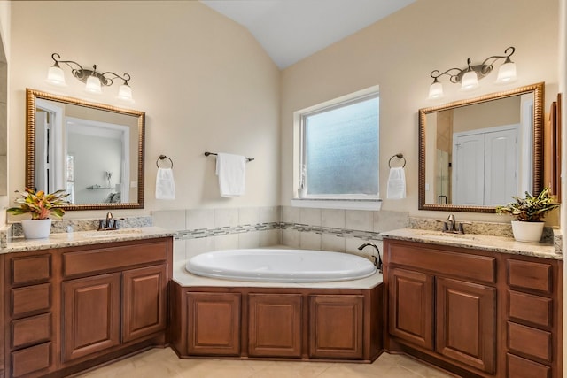
[[[51,53],[98,70],[130,73],[136,110],[146,112],[145,208],[115,216],[195,207],[279,204],[279,71],[252,35],[196,1],[12,2],[9,96],[10,190],[25,173],[25,89],[120,104],[118,85],[89,96],[66,71],[68,87],[44,82]],[[246,195],[221,199],[206,150],[255,158]],[[174,161],[177,199],[156,200],[156,160]],[[105,212],[68,212],[66,218]]]

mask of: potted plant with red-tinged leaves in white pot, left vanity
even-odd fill
[[[21,197],[14,200],[18,207],[11,207],[7,212],[13,215],[25,214],[27,212],[32,214],[31,220],[22,220],[21,227],[24,230],[24,235],[27,239],[43,239],[50,235],[51,219],[50,214],[61,218],[65,214],[65,210],[61,208],[69,204],[64,198],[69,194],[65,190],[58,190],[56,192],[45,194],[43,190],[35,192],[32,189],[26,188],[25,191],[20,192],[16,190]]]

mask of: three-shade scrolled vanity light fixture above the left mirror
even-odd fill
[[[71,68],[71,73],[75,78],[85,83],[85,90],[89,93],[100,94],[102,93],[103,86],[110,87],[113,85],[114,79],[123,80],[124,82],[118,89],[117,98],[122,101],[134,103],[134,99],[132,98],[132,89],[128,85],[128,81],[131,79],[128,73],[124,73],[122,76],[110,71],[97,73],[97,65],[93,65],[92,70],[89,70],[83,68],[80,64],[73,60],[61,60],[61,56],[57,52],[51,54],[51,58],[55,63],[53,66],[50,66],[47,73],[47,79],[45,80],[46,82],[59,87],[66,87],[65,73],[61,66],[59,66],[59,63],[64,63]]]

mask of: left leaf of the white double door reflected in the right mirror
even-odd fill
[[[485,135],[453,137],[453,204],[478,206],[484,202]]]

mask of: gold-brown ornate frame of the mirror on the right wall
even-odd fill
[[[458,204],[425,204],[425,117],[432,112],[446,111],[470,104],[482,104],[488,101],[518,96],[527,93],[533,94],[533,195],[538,195],[542,189],[543,181],[543,102],[544,83],[539,82],[517,89],[493,93],[469,100],[455,101],[449,104],[423,108],[419,110],[419,210],[441,212],[496,212],[493,206],[464,206]]]

